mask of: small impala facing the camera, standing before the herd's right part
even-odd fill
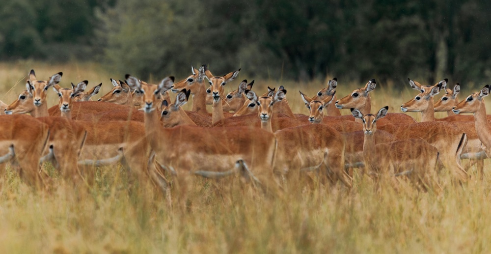
[[[353,115],[363,121],[366,170],[375,180],[376,187],[379,187],[379,179],[388,174],[408,175],[415,184],[422,184],[424,188],[433,186],[432,176],[438,163],[438,151],[434,146],[421,139],[375,144],[377,120],[386,115],[388,108],[382,108],[377,115],[363,115],[359,110],[351,109]]]

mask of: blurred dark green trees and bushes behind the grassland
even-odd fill
[[[407,85],[491,78],[489,0],[2,0],[0,57]]]

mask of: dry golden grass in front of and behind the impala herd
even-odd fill
[[[96,99],[112,88],[109,78],[123,79],[125,75],[105,71],[96,63],[1,63],[3,102],[10,104],[25,90],[30,69],[43,78],[63,72],[59,84],[62,87],[82,80],[89,81],[88,88],[103,83]],[[156,84],[162,78],[151,77],[147,82]],[[176,81],[184,78],[177,76]],[[251,81],[254,77],[239,74],[227,84],[225,92],[236,89],[244,79]],[[267,86],[279,85],[288,91],[286,98],[293,112],[308,114],[298,90],[313,96],[326,87],[326,81],[297,83],[271,77],[256,79],[253,90],[262,94]],[[364,85],[364,82],[338,80],[336,95],[341,98]],[[453,85],[454,81],[450,81],[448,86]],[[478,88],[474,90],[463,86],[459,98],[464,99],[484,85],[476,84]],[[401,113],[401,104],[416,94],[408,83],[377,84],[372,93],[372,113],[383,106],[389,106],[389,113]],[[435,97],[440,98],[442,94]],[[49,107],[57,104],[57,97],[50,89]],[[191,110],[191,100],[184,105],[185,110]],[[417,121],[421,119],[419,113],[408,114]],[[445,115],[437,113],[436,117]],[[468,161],[463,161],[466,164]],[[73,186],[64,183],[53,167],[45,165],[52,182],[44,191],[35,191],[22,183],[13,170],[2,170],[2,253],[489,253],[491,250],[489,160],[485,161],[482,180],[472,166],[468,169],[471,179],[462,185],[452,183],[445,170],[440,172],[442,189],[438,192],[420,191],[404,179],[396,187],[384,186],[375,192],[372,180],[363,177],[357,169],[351,191],[340,183],[327,187],[313,177],[313,180],[302,179],[304,187],[298,191],[279,197],[262,194],[239,176],[220,180],[195,177],[185,209],[176,197],[169,203],[150,182],[130,184],[127,172],[120,166],[98,168],[93,186],[83,183]]]

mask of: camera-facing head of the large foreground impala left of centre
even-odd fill
[[[159,85],[146,84],[139,79],[127,75],[126,83],[130,86],[135,85],[138,93],[142,94],[143,109],[145,113],[151,113],[157,107],[156,101],[161,96],[161,92],[166,92],[174,84],[174,77],[164,78]],[[135,91],[136,91],[135,90]]]

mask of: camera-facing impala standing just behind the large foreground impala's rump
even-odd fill
[[[258,106],[261,129],[273,132],[273,108],[286,94],[279,89],[273,96],[257,95],[246,90],[247,98]],[[344,138],[327,125],[292,126],[274,132],[277,139],[277,155],[274,171],[286,174],[296,184],[301,169],[320,168],[323,175],[332,181],[340,180],[346,187],[352,187],[352,179],[344,171]]]

